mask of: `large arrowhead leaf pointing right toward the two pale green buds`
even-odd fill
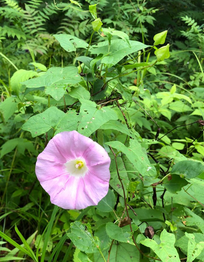
[[[109,59],[112,59],[112,61],[109,64],[106,64],[108,68],[110,68],[112,65],[117,64],[125,56],[134,53],[138,50],[149,47],[149,45],[145,45],[138,41],[129,41],[129,43],[131,47],[129,47],[129,45],[125,43],[122,39],[112,40],[109,50],[108,41],[104,41],[97,45],[93,45],[91,49],[89,49],[89,51],[91,52],[91,54],[104,54],[105,52],[111,53],[109,55]],[[103,61],[101,61],[101,63],[103,63]]]

